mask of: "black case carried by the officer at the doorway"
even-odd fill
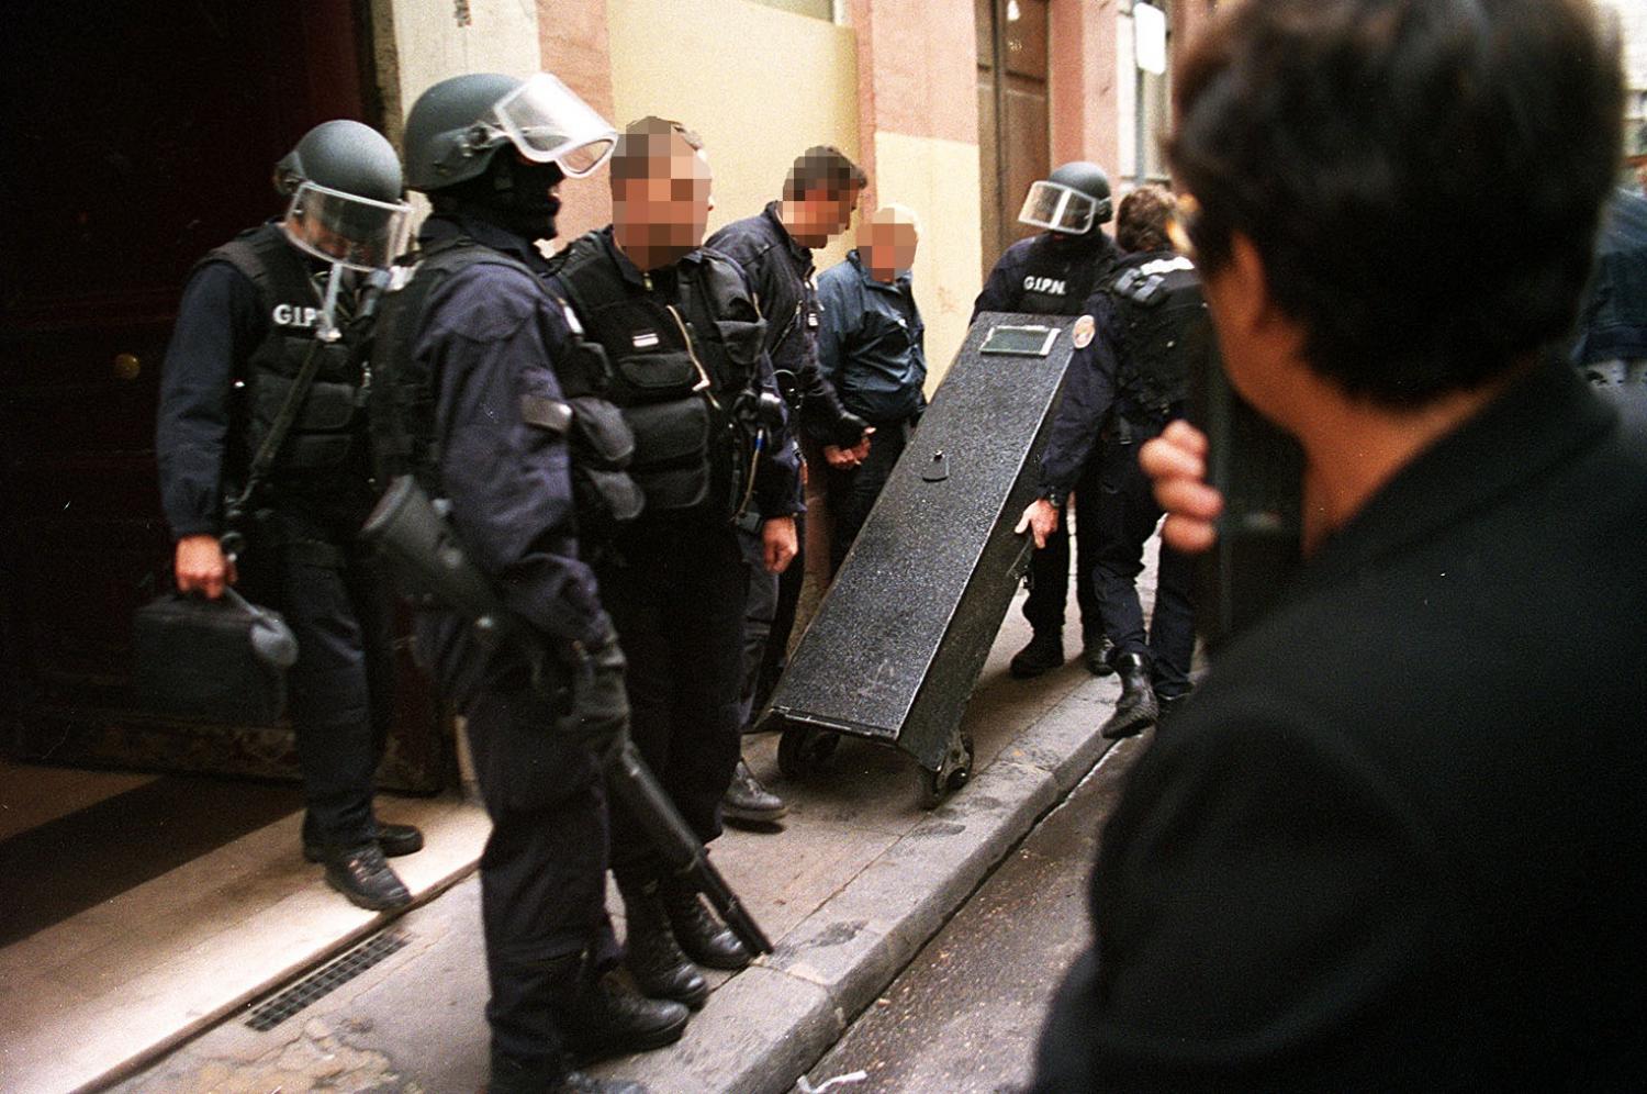
[[[275,725],[296,641],[280,613],[232,588],[219,600],[166,593],[133,618],[137,692],[147,710],[224,725]]]

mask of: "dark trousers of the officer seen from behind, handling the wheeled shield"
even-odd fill
[[[1103,442],[1097,499],[1097,559],[1090,582],[1103,619],[1103,633],[1118,654],[1150,657],[1155,690],[1181,695],[1189,690],[1189,661],[1196,651],[1196,611],[1191,600],[1194,557],[1161,544],[1156,570],[1155,613],[1145,636],[1138,575],[1143,545],[1161,521],[1161,507],[1148,476],[1138,466],[1138,448],[1156,430],[1135,430],[1131,443]]]

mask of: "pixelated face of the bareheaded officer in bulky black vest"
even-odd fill
[[[708,160],[680,137],[647,142],[646,173],[613,183],[613,227],[626,250],[654,259],[652,269],[680,259],[703,242],[708,229]]]

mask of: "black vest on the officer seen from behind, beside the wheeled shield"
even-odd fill
[[[1189,377],[1212,349],[1201,275],[1171,250],[1122,259],[1110,293],[1127,331],[1120,389],[1125,402],[1161,417],[1189,395]]]

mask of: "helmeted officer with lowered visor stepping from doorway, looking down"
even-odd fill
[[[155,435],[161,503],[181,591],[216,598],[244,578],[292,624],[303,853],[352,903],[389,909],[412,898],[384,857],[423,837],[372,816],[394,659],[384,582],[356,539],[374,494],[346,311],[357,272],[404,242],[400,161],[376,130],[334,120],[280,160],[275,186],[285,217],[208,254],[183,292]]]

